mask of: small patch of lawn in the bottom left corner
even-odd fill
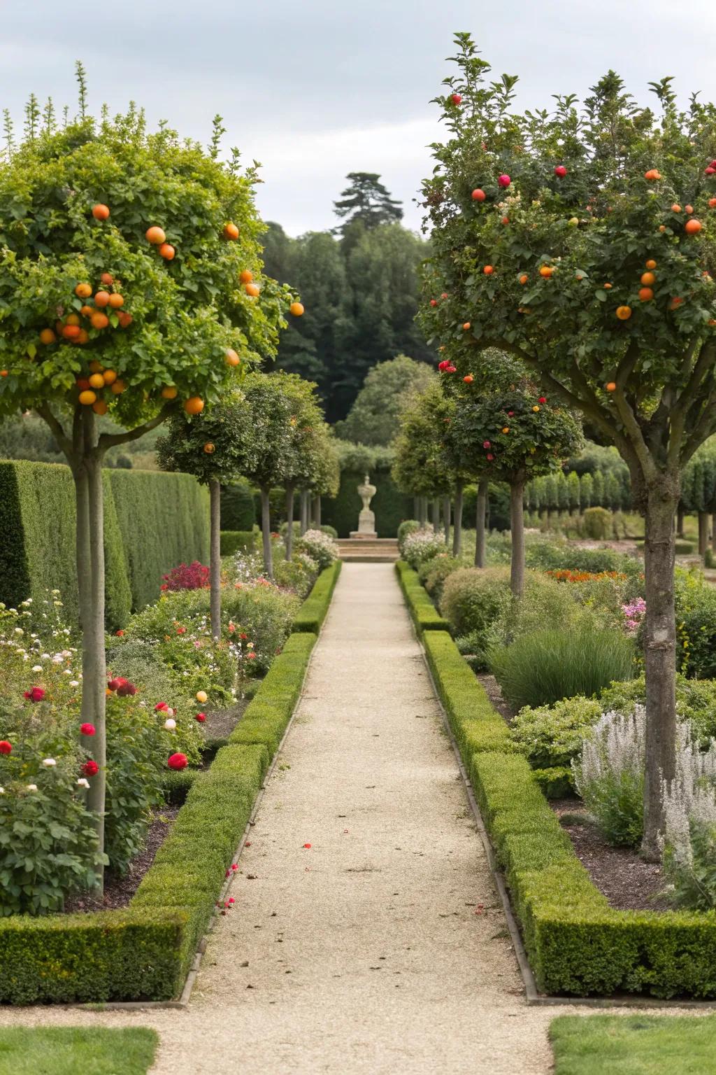
[[[9,1027],[0,1030],[0,1075],[145,1075],[154,1030]]]

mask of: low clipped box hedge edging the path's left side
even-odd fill
[[[323,593],[323,616],[334,587]],[[289,635],[228,745],[187,782],[186,802],[127,909],[0,918],[0,1002],[177,1003],[317,641],[313,632]]]

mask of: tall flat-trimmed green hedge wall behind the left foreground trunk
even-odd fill
[[[156,600],[161,575],[181,560],[208,557],[207,494],[187,474],[105,470],[106,626]],[[0,601],[17,606],[62,596],[76,622],[75,500],[59,463],[0,461]]]

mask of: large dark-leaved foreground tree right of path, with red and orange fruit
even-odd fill
[[[582,411],[629,467],[644,514],[646,784],[643,851],[658,856],[675,772],[673,518],[681,474],[716,430],[716,108],[658,115],[609,72],[582,106],[514,111],[468,34],[437,98],[450,134],[423,188],[434,256],[421,318],[458,375],[486,348]],[[434,305],[429,301],[434,301]]]

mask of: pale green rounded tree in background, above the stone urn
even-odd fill
[[[360,444],[388,446],[399,431],[400,412],[435,379],[425,362],[407,355],[379,362],[368,371],[346,420],[337,424],[337,435]]]

